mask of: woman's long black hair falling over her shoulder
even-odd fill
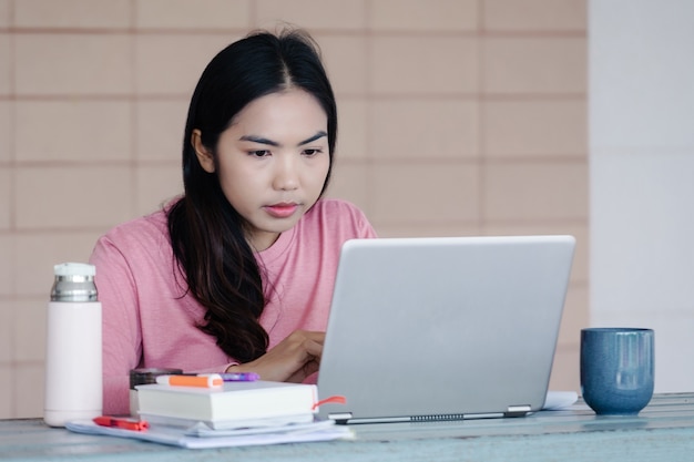
[[[330,168],[325,192],[337,136],[337,109],[319,49],[299,30],[255,32],[222,50],[197,82],[183,136],[185,194],[167,214],[171,244],[186,290],[206,308],[200,328],[241,362],[267,351],[267,332],[258,322],[266,304],[262,270],[244,235],[244,218],[222,192],[217,170],[207,173],[200,165],[192,134],[200,130],[202,144],[216,156],[220,135],[236,114],[254,100],[287,89],[308,92],[327,115]]]

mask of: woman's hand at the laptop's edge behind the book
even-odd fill
[[[227,371],[255,372],[262,380],[299,383],[318,371],[325,332],[295,330],[258,359]]]

